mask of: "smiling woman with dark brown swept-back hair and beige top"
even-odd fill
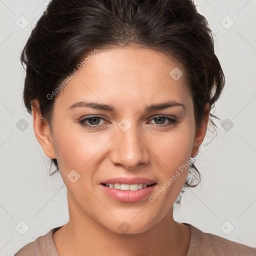
[[[173,219],[224,86],[191,0],[52,0],[21,60],[69,221],[15,255],[256,254]]]

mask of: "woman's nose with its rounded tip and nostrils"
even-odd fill
[[[112,140],[112,163],[121,164],[127,169],[134,169],[138,164],[146,164],[150,160],[149,141],[146,141],[134,126],[126,131],[118,128]]]

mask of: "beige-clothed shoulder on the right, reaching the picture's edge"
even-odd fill
[[[191,224],[185,224],[191,230],[191,240],[187,256],[256,256],[256,248],[212,233],[203,232]]]

